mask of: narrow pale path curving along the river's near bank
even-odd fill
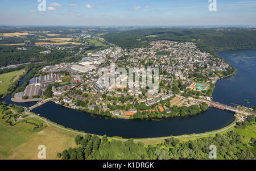
[[[27,112],[27,114],[30,114],[29,112]],[[46,119],[43,119],[43,118],[40,118],[38,115],[33,115],[33,114],[30,114],[32,116],[34,116],[35,118],[38,118],[40,120],[43,120],[44,122],[46,122],[47,124],[51,124],[52,126],[55,126],[57,128],[60,128],[61,130],[65,130],[65,131],[69,131],[69,132],[73,132],[75,134],[80,134],[80,135],[86,135],[86,133],[82,133],[82,132],[77,132],[77,131],[72,131],[72,130],[68,130],[67,128],[63,128],[63,127],[60,127],[60,126],[57,126],[56,124],[53,124],[51,122],[49,122],[48,120]],[[240,119],[241,120],[241,119]],[[240,122],[240,120],[238,122]],[[210,133],[205,133],[205,134],[197,134],[197,135],[184,135],[184,136],[175,136],[174,138],[183,138],[183,137],[196,137],[196,136],[204,136],[204,135],[212,135],[212,134],[216,134],[216,133],[219,133],[219,132],[223,132],[223,131],[226,131],[226,130],[229,130],[230,128],[234,127],[236,125],[236,123],[232,124],[231,126],[229,127],[226,127],[224,128],[223,130],[219,130],[219,131],[216,131],[216,132],[210,132]],[[102,136],[99,136],[99,137],[102,137]],[[168,139],[170,137],[156,137],[156,138],[153,138],[153,139],[135,139],[134,141],[148,141],[148,140],[165,140],[165,139]],[[108,137],[108,139],[110,140],[121,140],[121,141],[127,141],[128,139],[115,139],[115,138],[112,138],[112,137]]]

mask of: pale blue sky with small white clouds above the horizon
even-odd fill
[[[38,1],[46,1],[46,11],[38,10]],[[216,11],[209,1],[216,1]],[[256,1],[1,0],[0,25],[256,26]]]

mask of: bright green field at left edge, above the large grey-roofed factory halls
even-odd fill
[[[22,70],[15,70],[14,72],[0,74],[0,81],[3,81],[3,82],[0,82],[1,94],[7,93],[7,89],[8,89],[8,86],[11,84],[11,81],[21,71]]]

